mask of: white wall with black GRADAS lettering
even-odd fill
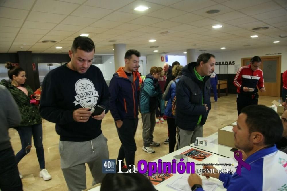
[[[253,56],[272,56],[266,54],[276,54],[281,53],[281,73],[287,70],[287,46],[275,46],[275,47],[268,47],[268,48],[257,48],[257,49],[248,49],[248,50],[237,50],[237,51],[224,51],[224,52],[210,52],[211,54],[215,55],[216,62],[229,62],[235,61],[234,65],[228,65],[228,74],[236,73],[235,69],[241,67],[241,58],[248,58]],[[237,65],[237,66],[236,66]],[[222,72],[224,71],[226,65],[220,66],[220,73],[227,73]],[[219,73],[219,65],[215,66],[215,72]]]

